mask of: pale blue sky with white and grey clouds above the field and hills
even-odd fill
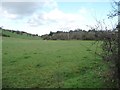
[[[48,34],[50,31],[88,30],[97,20],[114,27],[108,20],[110,0],[2,0],[0,26],[6,29]]]

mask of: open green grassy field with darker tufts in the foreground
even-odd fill
[[[94,41],[3,37],[3,88],[104,88],[109,67]],[[101,49],[98,47],[98,52]]]

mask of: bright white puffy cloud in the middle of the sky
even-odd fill
[[[82,12],[83,13],[83,12]],[[69,24],[73,22],[83,21],[84,16],[80,13],[64,13],[58,8],[55,8],[49,12],[43,12],[36,15],[29,20],[30,24],[43,25],[43,24]],[[38,23],[38,24],[37,24]]]

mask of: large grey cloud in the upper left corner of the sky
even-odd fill
[[[10,14],[21,17],[33,14],[37,9],[42,9],[43,2],[3,2],[2,9]]]

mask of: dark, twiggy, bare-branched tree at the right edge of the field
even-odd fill
[[[120,1],[116,2],[114,1],[114,5],[113,6],[113,10],[112,12],[110,12],[110,14],[108,14],[108,19],[114,18],[116,16],[120,16]],[[107,26],[105,26],[103,28],[102,25],[105,25],[104,22],[100,22],[98,20],[97,21],[97,25],[95,25],[94,29],[95,30],[105,30],[105,31],[99,31],[99,33],[95,33],[95,36],[97,37],[97,40],[101,41],[102,40],[102,57],[103,60],[106,60],[107,62],[111,62],[109,63],[110,67],[111,67],[111,81],[113,81],[114,83],[116,83],[117,88],[120,88],[120,60],[118,59],[118,57],[120,57],[120,55],[118,54],[118,52],[120,52],[120,50],[118,49],[118,46],[120,45],[120,37],[118,38],[118,36],[120,36],[120,21],[118,19],[118,25],[116,26],[117,28],[114,29],[112,31],[108,30]],[[102,27],[102,28],[101,28]],[[119,35],[118,35],[119,34]]]

